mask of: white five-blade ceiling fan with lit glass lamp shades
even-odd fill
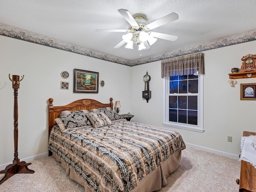
[[[128,21],[130,27],[126,29],[97,29],[98,32],[127,32],[122,36],[122,41],[114,48],[120,48],[123,44],[127,43],[125,48],[133,49],[133,44],[138,46],[138,50],[147,50],[150,45],[154,44],[157,38],[169,41],[175,41],[177,36],[152,32],[150,30],[165,25],[169,22],[175,21],[179,18],[178,14],[170,13],[152,23],[148,23],[143,16],[133,16],[126,9],[119,9],[118,12]]]

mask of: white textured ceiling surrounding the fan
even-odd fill
[[[126,33],[96,29],[128,29],[118,12],[127,9],[149,23],[171,12],[179,19],[154,32],[178,36],[158,39],[149,50],[114,49]],[[136,60],[184,46],[256,29],[256,0],[0,0],[0,22],[58,40]],[[140,56],[142,54],[142,56]]]

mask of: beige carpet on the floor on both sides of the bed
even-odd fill
[[[34,174],[12,176],[0,185],[0,192],[84,192],[55,159],[43,157],[31,163],[28,168]],[[168,177],[168,185],[158,192],[237,192],[239,176],[238,160],[187,147],[180,166]]]

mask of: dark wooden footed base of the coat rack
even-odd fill
[[[35,171],[28,168],[31,163],[26,163],[25,161],[19,162],[20,160],[13,161],[13,164],[6,166],[5,170],[0,171],[0,173],[5,173],[4,177],[0,180],[0,184],[14,176],[18,173],[34,173]]]

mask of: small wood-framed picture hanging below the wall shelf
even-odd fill
[[[240,84],[240,100],[256,100],[256,83]]]

